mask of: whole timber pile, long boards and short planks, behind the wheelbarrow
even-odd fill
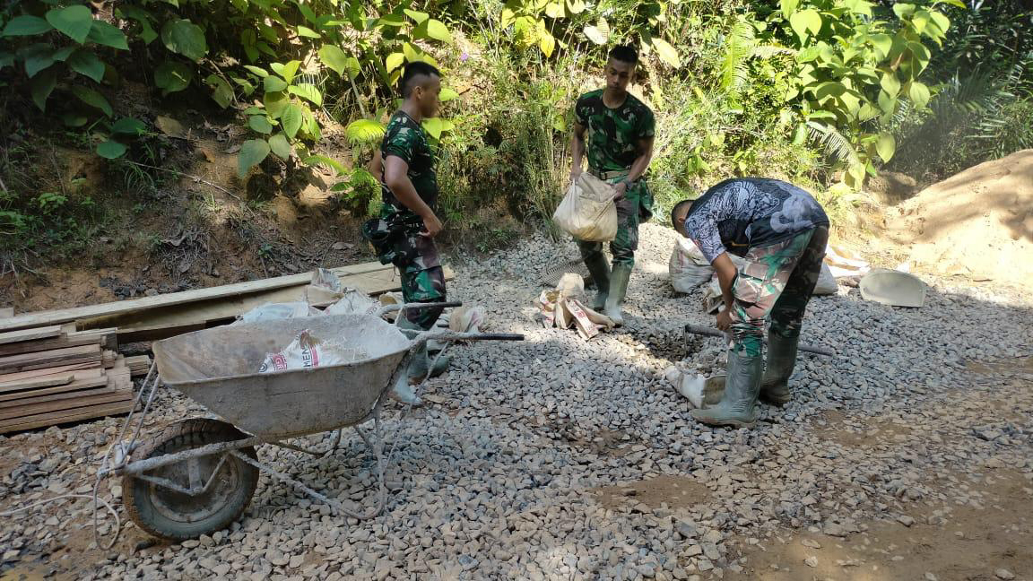
[[[394,268],[379,263],[331,272],[342,286],[373,296],[400,288]],[[126,414],[132,377],[147,375],[151,359],[123,357],[120,344],[225,325],[269,303],[325,306],[313,279],[280,276],[18,315],[0,308],[0,434]]]

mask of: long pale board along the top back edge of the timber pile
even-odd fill
[[[380,263],[365,263],[362,265],[340,267],[331,270],[340,277],[349,274],[372,274],[390,269],[392,267],[381,265]],[[236,284],[224,284],[222,286],[211,286],[209,288],[197,288],[182,293],[169,293],[166,295],[157,295],[155,297],[145,297],[143,299],[117,301],[114,303],[104,303],[87,307],[23,313],[10,318],[0,318],[0,331],[42,327],[44,325],[60,325],[62,323],[69,323],[77,319],[112,316],[158,307],[193,303],[196,301],[250,295],[275,288],[306,285],[311,282],[311,280],[312,273],[308,272],[304,274],[278,276],[276,278],[251,280],[248,282],[238,282]]]

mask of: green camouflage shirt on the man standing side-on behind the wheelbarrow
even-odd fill
[[[419,123],[404,112],[397,112],[387,123],[387,130],[380,144],[380,155],[385,160],[388,155],[394,155],[409,164],[408,176],[416,193],[434,210],[438,203],[438,177],[434,172],[434,153]],[[387,221],[401,218],[405,222],[422,224],[414,212],[395,197],[390,188],[384,184],[383,176],[380,176],[380,191],[383,200],[381,218]]]

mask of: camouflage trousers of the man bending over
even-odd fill
[[[828,226],[819,225],[782,242],[750,248],[746,266],[732,284],[732,350],[745,357],[759,356],[769,317],[772,333],[786,338],[800,336],[827,243]]]

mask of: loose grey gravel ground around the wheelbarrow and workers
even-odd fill
[[[154,543],[125,525],[93,545],[88,501],[5,520],[0,573],[67,579],[1033,579],[1033,301],[993,283],[929,280],[926,306],[856,288],[812,301],[793,402],[754,430],[694,423],[664,379],[708,367],[698,295],[666,278],[675,235],[643,227],[627,327],[583,341],[532,302],[543,238],[453,256],[449,298],[487,307],[523,343],[455,348],[428,405],[387,409],[389,506],[364,522],[262,478],[212,537]],[[151,427],[204,410],[163,393]],[[0,436],[0,511],[92,487],[118,420]],[[346,434],[312,460],[259,458],[330,495],[369,501],[375,467]],[[315,445],[320,438],[306,438]],[[328,439],[327,439],[328,441]],[[105,495],[120,498],[116,481]],[[14,577],[17,578],[17,576]]]

